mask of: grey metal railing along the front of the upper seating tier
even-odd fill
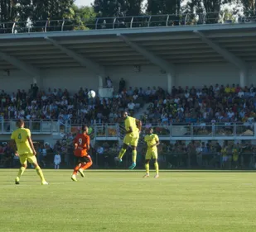
[[[58,121],[26,121],[25,125],[34,134],[72,133],[80,130],[81,125],[60,123]],[[239,138],[241,140],[256,139],[256,123],[218,123],[218,124],[172,124],[172,125],[143,125],[142,135],[146,135],[151,126],[162,140],[218,140],[220,138]],[[125,130],[123,125],[97,124],[90,126],[92,139],[114,140],[123,139]],[[10,134],[16,129],[15,121],[1,121],[0,134]],[[141,136],[142,137],[142,136]],[[142,142],[142,141],[140,141]]]

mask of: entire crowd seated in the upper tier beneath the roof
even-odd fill
[[[112,81],[106,78],[106,87]],[[123,78],[118,92],[112,98],[95,97],[89,99],[89,88],[80,88],[76,93],[67,89],[48,88],[41,90],[36,84],[28,92],[17,90],[7,94],[0,93],[0,113],[2,119],[26,121],[58,120],[73,124],[100,124],[120,121],[122,110],[134,111],[143,104],[152,102],[142,115],[144,124],[180,123],[230,123],[254,122],[256,107],[256,88],[240,88],[239,85],[219,85],[195,87],[173,87],[171,94],[162,88],[126,88]]]

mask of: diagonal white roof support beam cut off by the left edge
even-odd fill
[[[40,77],[40,70],[31,66],[31,64],[27,64],[27,63],[23,62],[22,60],[17,59],[17,58],[15,58],[9,54],[6,54],[2,51],[0,51],[0,57],[2,59],[6,60],[7,62],[9,62],[10,64],[12,64],[13,66],[17,67],[18,69],[25,71],[32,77]]]

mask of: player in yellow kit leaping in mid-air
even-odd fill
[[[123,147],[120,150],[118,157],[115,157],[115,160],[122,162],[123,154],[125,154],[126,150],[128,149],[128,145],[130,145],[133,149],[133,163],[129,169],[133,169],[136,167],[137,145],[139,133],[142,130],[142,122],[134,117],[128,116],[127,111],[123,112],[123,119],[126,135],[123,139]]]

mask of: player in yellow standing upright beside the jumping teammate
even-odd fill
[[[147,143],[147,153],[145,157],[145,169],[146,175],[143,178],[149,177],[149,162],[152,159],[156,169],[155,178],[159,178],[159,169],[157,163],[157,146],[160,144],[159,138],[156,134],[153,134],[153,129],[148,129],[148,135],[144,138],[145,142]]]

